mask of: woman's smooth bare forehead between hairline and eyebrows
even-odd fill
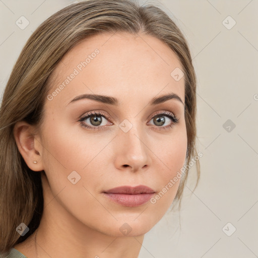
[[[172,76],[176,69],[183,70],[177,55],[156,37],[97,34],[63,56],[51,75],[49,93],[63,85],[56,97],[63,103],[82,93],[153,97],[161,91],[184,100],[184,78],[176,81]]]

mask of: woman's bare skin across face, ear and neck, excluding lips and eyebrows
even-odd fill
[[[80,71],[78,64],[96,48],[99,53]],[[23,121],[14,129],[28,166],[45,171],[44,212],[36,238],[38,257],[138,257],[144,234],[172,204],[180,179],[155,204],[138,207],[114,203],[103,191],[143,184],[158,193],[184,165],[184,105],[176,99],[148,104],[168,93],[177,94],[184,102],[184,78],[175,81],[170,76],[182,66],[176,54],[155,37],[95,35],[64,55],[51,78],[49,94],[75,68],[80,73],[52,100],[46,100],[41,132],[29,137],[35,128]],[[85,93],[115,97],[120,106],[90,99],[69,104]],[[80,117],[89,111],[109,116],[105,119],[101,114],[100,130],[80,124]],[[165,116],[165,124],[157,125],[151,116],[159,111],[172,112],[179,122],[173,124]],[[124,119],[133,125],[126,133],[119,127]],[[84,123],[96,128],[89,118]],[[76,184],[68,179],[74,170],[81,176]],[[119,230],[124,223],[132,229],[126,235]],[[36,257],[34,237],[35,233],[14,247],[29,258]]]

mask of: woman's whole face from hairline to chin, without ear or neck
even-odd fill
[[[38,145],[51,216],[112,236],[145,234],[162,218],[187,148],[179,69],[165,43],[142,34],[95,35],[62,58]],[[153,101],[167,94],[178,98]],[[139,185],[155,193],[107,193]]]

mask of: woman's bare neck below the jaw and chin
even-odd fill
[[[37,258],[137,258],[142,247],[144,235],[135,237],[116,237],[104,235],[86,226],[78,228],[62,220],[42,217],[38,227],[36,246]]]

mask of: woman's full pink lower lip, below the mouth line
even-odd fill
[[[138,195],[126,195],[125,193],[106,193],[104,195],[122,206],[136,207],[147,203],[154,193],[139,193]]]

